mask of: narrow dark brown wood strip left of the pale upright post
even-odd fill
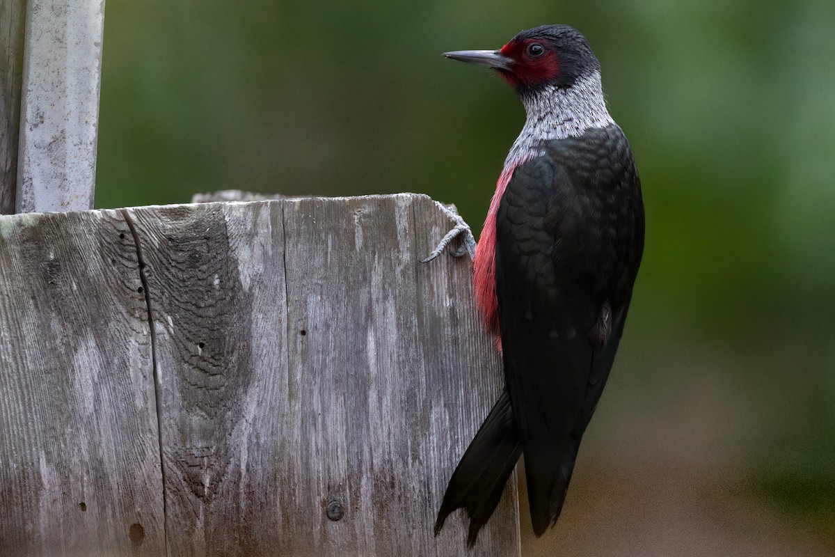
[[[0,215],[14,213],[26,0],[0,0]]]

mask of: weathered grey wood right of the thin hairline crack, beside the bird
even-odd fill
[[[463,553],[460,517],[438,539],[432,527],[463,448],[498,397],[500,372],[468,261],[419,263],[448,219],[414,195],[284,203],[300,418],[284,436],[291,460],[281,483],[293,486],[288,503],[299,509],[287,554]],[[320,466],[306,469],[311,461]],[[509,484],[472,554],[518,551]],[[310,512],[335,500],[340,521]]]

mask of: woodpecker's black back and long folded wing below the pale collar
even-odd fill
[[[643,229],[640,183],[617,126],[544,144],[499,205],[504,370],[538,535],[559,516],[614,361]]]

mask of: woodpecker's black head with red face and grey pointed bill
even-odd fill
[[[519,94],[569,89],[600,72],[600,62],[582,33],[568,25],[543,25],[517,34],[498,50],[458,50],[447,58],[495,69]]]

